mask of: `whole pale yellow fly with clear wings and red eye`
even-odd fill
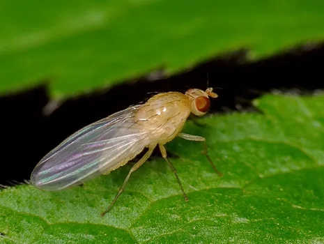
[[[203,153],[217,174],[221,175],[207,154],[206,139],[180,132],[190,113],[203,116],[208,112],[209,97],[217,98],[212,88],[206,91],[189,89],[185,94],[158,93],[144,104],[128,107],[87,125],[40,160],[31,174],[31,183],[42,190],[63,190],[100,174],[109,174],[135,158],[144,148],[148,148],[143,157],[130,169],[116,197],[101,213],[103,216],[111,210],[119,195],[125,190],[132,172],[141,167],[151,156],[153,149],[159,146],[162,157],[176,176],[183,197],[187,201],[176,168],[167,158],[164,144],[176,136],[203,142]]]

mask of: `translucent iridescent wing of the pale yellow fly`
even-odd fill
[[[61,190],[116,169],[147,145],[146,132],[134,121],[140,105],[129,107],[82,128],[36,165],[31,183]]]

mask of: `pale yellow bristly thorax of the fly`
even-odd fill
[[[135,119],[145,130],[151,130],[156,140],[160,142],[176,137],[189,114],[187,96],[183,93],[169,92],[159,93],[149,99],[139,109]]]

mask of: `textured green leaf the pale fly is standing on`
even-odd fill
[[[132,174],[104,218],[101,211],[131,165],[82,187],[0,191],[6,243],[316,243],[324,241],[324,95],[264,96],[264,114],[207,116],[185,132],[199,142],[167,144],[190,201],[167,163],[153,158]],[[201,146],[201,147],[200,147]],[[70,242],[69,242],[70,241]]]

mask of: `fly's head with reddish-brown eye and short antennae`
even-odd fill
[[[213,92],[213,88],[206,91],[201,89],[189,89],[185,92],[185,96],[190,100],[190,111],[197,116],[203,116],[210,108],[210,98],[217,98],[217,94]]]

